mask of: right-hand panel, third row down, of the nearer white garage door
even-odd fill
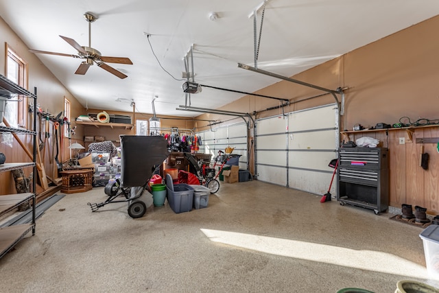
[[[289,152],[288,166],[328,171],[329,162],[337,158],[335,152]]]

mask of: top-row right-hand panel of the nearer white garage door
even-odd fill
[[[329,106],[307,109],[289,115],[289,131],[309,130],[318,128],[336,127],[334,108],[335,104]]]

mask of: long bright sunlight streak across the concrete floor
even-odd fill
[[[386,274],[425,278],[427,269],[402,257],[375,250],[355,250],[327,244],[259,236],[230,231],[200,229],[213,242],[228,244],[261,253],[331,263]]]

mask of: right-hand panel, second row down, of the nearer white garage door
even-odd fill
[[[335,130],[318,132],[290,133],[289,149],[292,150],[333,150],[335,149]]]

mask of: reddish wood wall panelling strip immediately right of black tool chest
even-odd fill
[[[392,207],[406,202],[405,145],[399,144],[401,130],[389,131],[389,201]]]

